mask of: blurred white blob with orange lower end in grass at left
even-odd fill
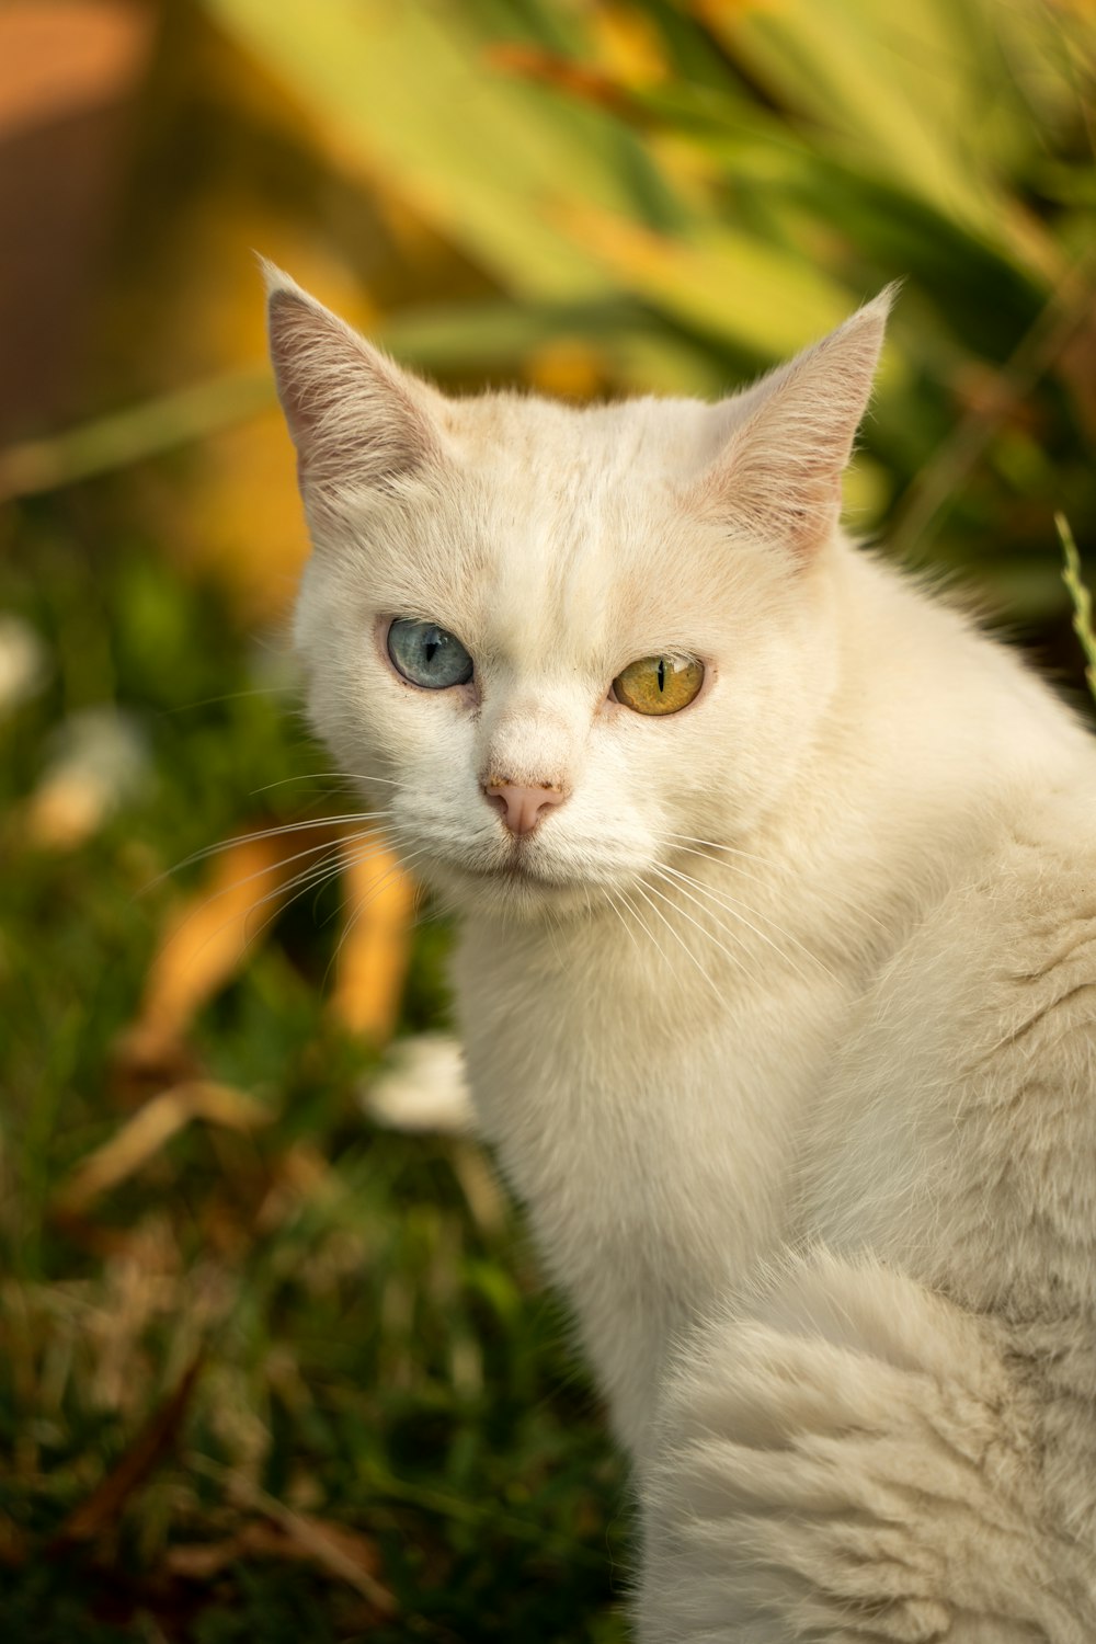
[[[69,848],[133,799],[148,774],[148,748],[136,722],[115,707],[71,713],[56,732],[51,758],[28,802],[38,845]]]

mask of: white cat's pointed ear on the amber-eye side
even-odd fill
[[[705,513],[807,561],[833,533],[841,472],[868,409],[887,314],[887,286],[843,326],[731,399],[731,432],[702,477]]]

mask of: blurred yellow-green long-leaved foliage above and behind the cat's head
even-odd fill
[[[115,395],[228,375],[58,455],[79,473],[243,419],[186,513],[253,612],[284,605],[301,552],[265,378],[238,376],[258,247],[444,381],[580,398],[725,391],[902,278],[851,520],[1061,626],[1052,515],[1081,541],[1096,515],[1083,0],[204,10],[166,13],[105,363]]]

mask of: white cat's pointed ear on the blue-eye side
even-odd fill
[[[309,493],[385,488],[435,462],[435,395],[261,260],[278,398]]]

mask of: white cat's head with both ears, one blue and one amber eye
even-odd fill
[[[536,914],[787,802],[889,294],[720,404],[450,399],[269,270],[317,730],[412,870]]]

